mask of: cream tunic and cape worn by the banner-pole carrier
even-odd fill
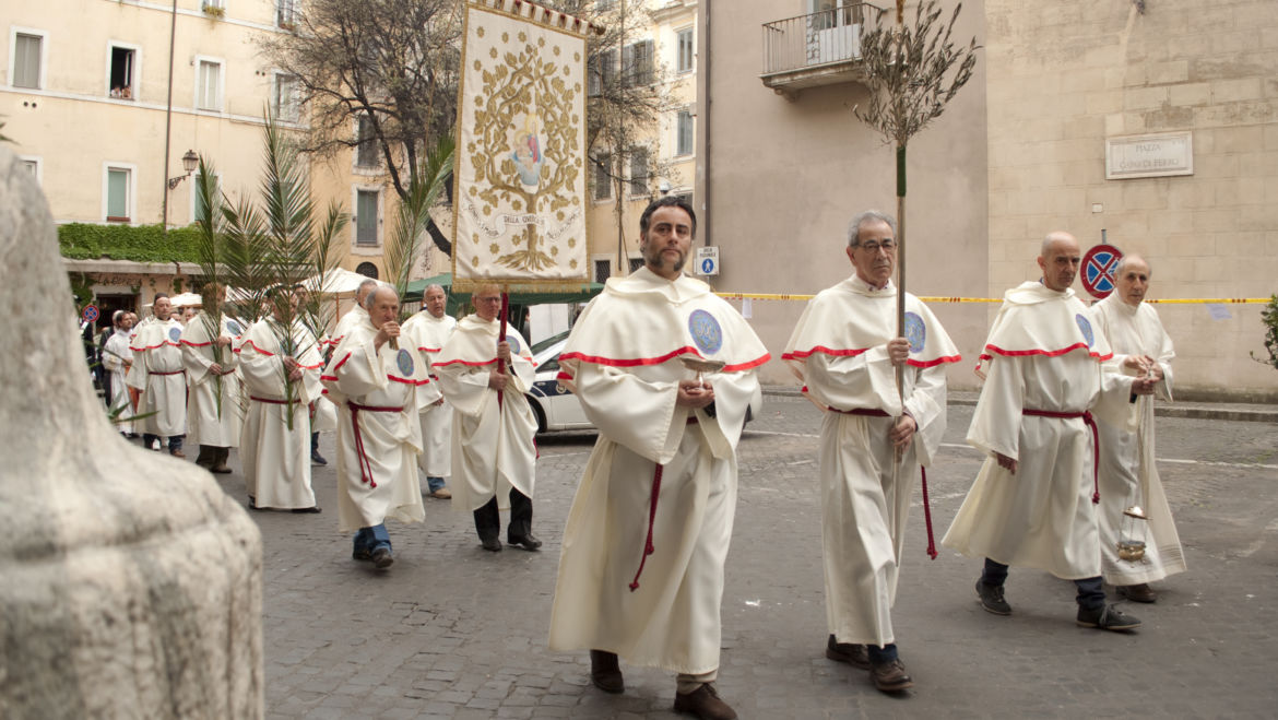
[[[533,386],[533,356],[514,327],[506,327],[510,380],[501,393],[488,387],[488,371],[497,367],[501,322],[468,315],[443,343],[435,361],[443,396],[452,405],[452,509],[478,510],[497,497],[510,506],[510,489],[533,496],[537,481],[537,416],[524,393]]]

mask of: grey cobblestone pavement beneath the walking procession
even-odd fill
[[[928,473],[938,542],[980,463],[962,445],[970,413],[951,408]],[[1012,572],[1013,615],[982,611],[979,560],[946,549],[927,559],[916,492],[893,611],[916,687],[889,697],[823,656],[818,423],[806,400],[768,396],[740,445],[718,687],[741,717],[1275,715],[1278,425],[1159,418],[1190,570],[1155,583],[1158,604],[1125,606],[1145,620],[1131,634],[1076,627],[1074,586],[1039,572]],[[316,468],[323,514],[253,513],[268,716],[675,717],[670,673],[622,664],[626,692],[608,696],[589,685],[584,652],[546,648],[560,538],[593,441],[539,440],[541,552],[486,552],[469,513],[426,500],[424,524],[389,526],[396,561],[377,573],[337,533],[331,467]],[[332,459],[331,435],[323,451]],[[244,499],[238,472],[219,480]]]

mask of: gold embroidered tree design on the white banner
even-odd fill
[[[553,214],[562,221],[573,206],[581,202],[573,192],[583,171],[574,152],[583,119],[573,111],[583,90],[581,81],[576,78],[570,83],[566,79],[571,78],[571,67],[555,60],[561,54],[558,46],[551,49],[547,59],[542,55],[544,38],[538,38],[534,46],[520,31],[518,40],[524,43],[523,50],[505,52],[492,70],[483,70],[478,60],[474,63],[474,70],[483,77],[483,95],[474,98],[473,109],[474,127],[481,132],[465,148],[475,171],[470,194],[482,203],[479,211],[486,220],[493,219],[497,207],[509,206],[527,215]],[[509,42],[506,33],[502,41]],[[573,63],[580,64],[580,52],[573,54]],[[498,59],[496,49],[491,55]],[[511,134],[521,127],[532,128],[538,141],[541,157],[533,169],[534,183],[521,178],[516,166]],[[523,170],[527,173],[528,168]],[[487,187],[479,189],[484,183]],[[501,265],[534,271],[555,265],[552,256],[558,248],[551,247],[550,253],[542,249],[535,221],[525,223],[512,243],[523,248],[498,257]],[[571,247],[574,240],[569,243]],[[493,244],[489,251],[496,254],[498,248]]]

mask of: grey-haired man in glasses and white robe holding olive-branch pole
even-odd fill
[[[826,656],[870,670],[883,692],[900,692],[914,684],[897,656],[891,616],[905,523],[920,466],[932,464],[946,431],[944,364],[961,357],[932,311],[909,293],[906,336],[896,336],[896,220],[863,212],[849,225],[847,243],[855,274],[808,303],[781,358],[827,408],[820,430]],[[904,405],[896,387],[901,364]]]

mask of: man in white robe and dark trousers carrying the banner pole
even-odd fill
[[[481,545],[493,552],[501,550],[498,510],[509,508],[506,542],[537,550],[537,416],[524,396],[533,386],[533,356],[514,325],[500,340],[496,285],[481,285],[472,301],[474,315],[458,322],[433,364],[452,405],[452,508],[472,512]]]

